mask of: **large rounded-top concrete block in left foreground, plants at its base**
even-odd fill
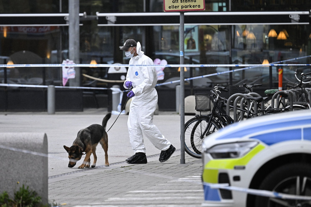
[[[48,204],[46,134],[0,133],[0,150],[0,194],[7,191],[10,198],[14,198],[14,191],[24,184],[41,197],[43,204]]]

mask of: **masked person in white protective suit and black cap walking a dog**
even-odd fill
[[[153,65],[153,61],[142,52],[139,42],[133,39],[125,41],[120,50],[130,59],[130,65]],[[131,89],[127,96],[132,98],[128,115],[128,134],[135,155],[126,159],[128,164],[146,164],[146,148],[143,135],[159,150],[160,162],[165,162],[174,153],[175,147],[153,124],[153,114],[158,102],[155,86],[157,74],[155,67],[131,66],[128,68],[124,88]]]

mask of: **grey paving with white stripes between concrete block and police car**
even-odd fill
[[[117,163],[49,178],[49,200],[62,206],[201,206],[202,160],[180,150],[159,162]]]

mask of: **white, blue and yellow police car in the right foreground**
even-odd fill
[[[279,196],[311,196],[311,111],[229,125],[205,139],[202,148],[202,206],[311,206],[310,200]],[[212,187],[225,183],[229,189]],[[272,193],[258,196],[249,189]]]

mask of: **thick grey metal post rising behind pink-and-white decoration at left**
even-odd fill
[[[68,0],[69,10],[69,60],[80,63],[80,28],[79,28],[79,0]],[[76,78],[69,80],[69,86],[80,86],[80,68],[75,67]]]

